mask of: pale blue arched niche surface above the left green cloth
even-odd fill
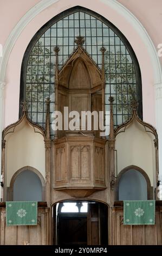
[[[42,184],[38,175],[31,170],[23,170],[16,176],[13,186],[14,201],[42,200]]]

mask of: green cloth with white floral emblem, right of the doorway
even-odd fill
[[[124,201],[124,225],[154,225],[155,200]]]

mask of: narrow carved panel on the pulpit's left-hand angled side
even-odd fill
[[[65,179],[66,173],[66,153],[65,146],[56,148],[56,181]]]

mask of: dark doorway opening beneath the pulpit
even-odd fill
[[[64,201],[53,206],[54,245],[108,245],[108,206]]]

